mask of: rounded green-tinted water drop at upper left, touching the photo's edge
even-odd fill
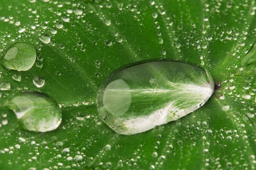
[[[27,71],[35,63],[36,51],[32,45],[18,42],[8,48],[0,59],[0,64],[9,70]]]

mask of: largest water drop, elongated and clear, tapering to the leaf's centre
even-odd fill
[[[97,95],[100,119],[131,135],[180,119],[204,105],[214,91],[205,68],[171,59],[136,62],[117,69]]]

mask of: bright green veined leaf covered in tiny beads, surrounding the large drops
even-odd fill
[[[254,6],[253,0],[2,1],[2,57],[24,42],[35,47],[37,60],[28,71],[0,66],[1,169],[254,169],[255,59],[248,57]],[[99,118],[100,85],[121,66],[157,58],[206,68],[214,94],[177,121],[118,135]],[[42,79],[39,88],[35,81]],[[42,92],[61,106],[56,130],[22,129],[4,105],[23,91]]]

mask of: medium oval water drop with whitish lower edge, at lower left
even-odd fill
[[[9,96],[5,106],[15,112],[25,130],[47,132],[55,130],[61,123],[58,104],[41,93],[23,92]]]

